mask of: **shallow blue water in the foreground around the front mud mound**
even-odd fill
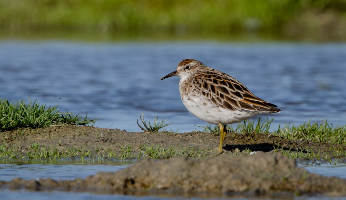
[[[44,161],[43,161],[44,162]],[[23,179],[52,178],[55,180],[72,180],[75,178],[86,178],[98,171],[117,171],[127,167],[122,161],[107,162],[103,164],[83,164],[80,161],[61,162],[61,165],[53,164],[24,164],[25,162],[13,162],[12,164],[0,161],[0,180],[10,181],[13,178],[21,177]],[[69,164],[66,164],[69,163]],[[346,164],[342,163],[311,163],[300,162],[298,166],[307,169],[309,172],[322,174],[326,176],[336,176],[346,178]],[[331,170],[332,169],[332,170]],[[138,197],[124,195],[92,194],[92,193],[75,193],[75,192],[29,192],[25,190],[15,191],[0,189],[2,199],[185,199],[186,197]],[[199,199],[199,198],[189,198]],[[245,200],[246,198],[244,198]],[[297,197],[297,200],[339,200],[342,198],[327,197]]]

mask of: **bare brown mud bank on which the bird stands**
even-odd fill
[[[129,148],[127,159],[143,158],[141,155],[144,146],[159,146],[160,150],[174,149],[174,155],[187,155],[192,157],[218,156],[219,135],[203,133],[199,131],[188,133],[169,134],[166,132],[143,133],[126,132],[119,129],[85,127],[76,125],[65,125],[61,127],[46,128],[22,128],[18,130],[6,131],[0,134],[0,141],[3,141],[3,151],[12,151],[17,155],[27,156],[36,151],[44,149],[43,146],[56,148],[61,154],[68,149],[83,149],[88,151],[89,157],[121,158],[123,147]],[[31,147],[39,146],[36,149]],[[179,151],[183,151],[181,154]],[[334,151],[346,151],[345,145],[330,143],[318,143],[307,140],[286,140],[279,136],[264,133],[228,133],[225,141],[223,154],[243,155],[249,152],[261,151],[276,154],[298,154],[298,157],[308,157],[318,155],[314,159],[345,158],[344,153],[337,154]],[[74,158],[80,158],[82,151],[76,151]],[[162,158],[170,157],[163,155]],[[74,159],[71,157],[70,159]]]

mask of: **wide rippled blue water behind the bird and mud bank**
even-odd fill
[[[145,119],[168,119],[179,132],[206,122],[183,106],[179,77],[160,78],[193,58],[244,83],[282,109],[278,124],[346,124],[346,43],[0,41],[0,98],[37,99],[94,126],[141,131]],[[257,118],[254,117],[254,120]]]

